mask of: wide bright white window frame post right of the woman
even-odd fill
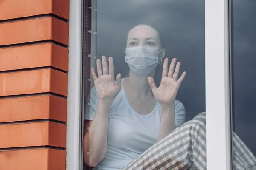
[[[205,0],[207,170],[231,170],[228,0]]]

